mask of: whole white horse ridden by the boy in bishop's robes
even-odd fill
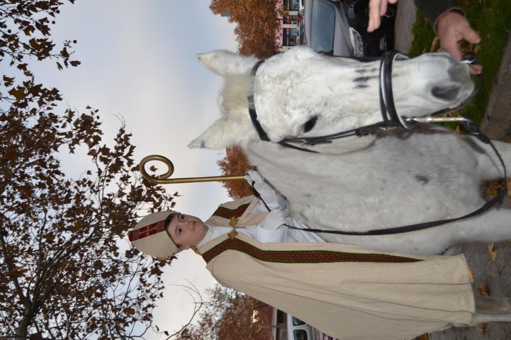
[[[223,76],[225,86],[222,117],[189,147],[240,144],[250,162],[289,199],[292,215],[311,228],[365,232],[459,217],[484,204],[481,181],[503,177],[488,144],[429,125],[307,147],[320,153],[275,143],[379,122],[379,61],[332,58],[294,47],[269,58],[251,76],[255,58],[226,51],[197,58]],[[468,66],[447,54],[395,61],[392,85],[397,111],[408,117],[456,105],[474,87]],[[251,123],[250,94],[271,142],[260,140]],[[511,165],[509,144],[494,144]],[[464,242],[510,239],[511,210],[494,208],[400,234],[321,236],[368,249],[441,254]]]

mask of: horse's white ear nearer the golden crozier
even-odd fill
[[[238,122],[220,118],[215,124],[195,138],[189,148],[225,149],[251,136],[254,132],[251,126],[243,126]]]

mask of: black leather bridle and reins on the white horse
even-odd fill
[[[300,143],[301,145],[315,145],[319,143],[329,143],[332,142],[332,139],[338,139],[338,138],[344,138],[349,136],[366,136],[371,133],[375,133],[378,130],[387,129],[390,127],[401,127],[404,129],[408,129],[409,124],[413,123],[435,123],[435,122],[458,122],[461,123],[462,126],[467,129],[472,135],[474,135],[476,138],[478,138],[481,142],[489,144],[495,154],[497,155],[503,169],[504,169],[504,178],[507,177],[506,173],[506,167],[504,165],[504,161],[502,160],[502,157],[498,153],[497,149],[491,142],[490,138],[485,136],[479,127],[468,118],[465,117],[445,117],[445,118],[438,118],[433,116],[445,114],[451,111],[458,110],[464,106],[466,106],[474,96],[479,93],[481,89],[481,76],[478,75],[477,82],[478,86],[477,88],[470,94],[470,96],[463,100],[462,102],[452,106],[448,107],[446,109],[442,109],[439,111],[436,111],[431,114],[429,117],[404,117],[400,116],[397,113],[396,106],[394,104],[393,96],[392,96],[392,63],[394,60],[406,60],[409,59],[408,56],[401,54],[398,51],[390,51],[383,55],[381,62],[380,62],[380,83],[379,83],[379,95],[380,95],[380,110],[382,113],[382,122],[366,125],[360,128],[355,128],[351,130],[342,131],[335,134],[330,135],[324,135],[324,136],[317,136],[317,137],[290,137],[290,138],[284,138],[283,140],[279,141],[278,143],[292,149],[305,151],[305,152],[312,152],[312,153],[318,153],[317,151],[305,149],[302,147],[298,147],[297,145],[293,145],[291,143]],[[462,62],[466,62],[467,64],[478,64],[477,58],[473,53],[466,54]],[[251,76],[255,77],[255,73],[257,72],[257,69],[259,66],[264,62],[264,60],[259,61],[256,63],[251,71]],[[249,114],[250,119],[252,120],[252,124],[257,131],[259,138],[261,140],[270,141],[268,138],[268,135],[264,131],[263,127],[259,123],[259,120],[257,119],[257,112],[255,112],[255,105],[254,105],[254,98],[253,93],[248,96],[248,107],[249,107]],[[252,191],[254,192],[255,196],[257,196],[260,200],[262,200],[261,196],[253,188],[253,182],[252,182]],[[419,223],[414,225],[408,225],[403,227],[396,227],[396,228],[387,228],[387,229],[377,229],[377,230],[369,230],[366,232],[346,232],[346,231],[337,231],[337,230],[321,230],[321,229],[303,229],[303,228],[296,228],[293,226],[286,225],[292,229],[302,229],[310,232],[322,232],[322,233],[332,233],[332,234],[342,234],[342,235],[389,235],[389,234],[398,234],[398,233],[404,233],[404,232],[410,232],[410,231],[416,231],[416,230],[422,230],[427,228],[436,227],[439,225],[443,225],[446,223],[452,223],[459,220],[464,220],[465,218],[473,217],[478,214],[483,213],[486,210],[489,210],[494,205],[502,204],[502,200],[507,192],[507,184],[505,184],[504,188],[497,189],[497,195],[492,198],[490,201],[486,202],[482,207],[479,209],[463,215],[461,217],[457,218],[449,218],[447,220],[439,220],[439,221],[433,221],[433,222],[425,222],[425,223]],[[264,201],[263,201],[264,203]],[[264,203],[266,205],[266,203]],[[268,206],[266,206],[268,208]],[[268,208],[269,210],[269,208]]]

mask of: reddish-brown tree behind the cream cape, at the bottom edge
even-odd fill
[[[206,291],[210,300],[195,326],[188,329],[194,340],[261,339],[262,321],[257,311],[265,303],[219,284]],[[255,311],[255,312],[254,312]]]

